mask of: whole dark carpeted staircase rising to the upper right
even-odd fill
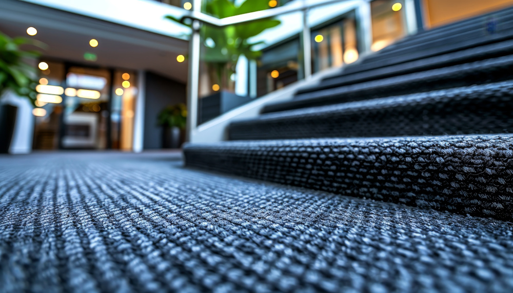
[[[511,15],[513,8],[405,38],[258,118],[231,123],[228,142],[187,145],[186,166],[512,229]]]

